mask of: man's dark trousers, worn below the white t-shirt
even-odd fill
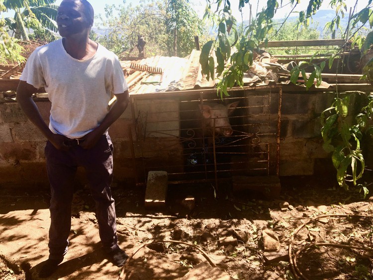
[[[111,139],[106,133],[92,149],[87,150],[78,143],[73,143],[75,142],[72,142],[69,151],[59,151],[49,141],[45,147],[52,196],[49,208],[51,214],[49,259],[54,260],[62,260],[69,245],[73,183],[78,166],[84,167],[87,173],[91,193],[96,203],[96,218],[103,248],[110,252],[118,247],[115,204],[110,190],[113,177]]]

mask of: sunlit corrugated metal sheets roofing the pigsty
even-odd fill
[[[124,72],[127,73],[126,80],[132,95],[212,89],[217,79],[207,81],[206,77],[202,76],[199,55],[200,51],[193,50],[186,58],[154,56],[137,61],[122,61],[121,64]],[[212,52],[212,55],[214,55],[214,52]],[[263,58],[265,61],[262,60]],[[215,57],[214,60],[215,65],[217,65]],[[244,73],[244,85],[246,87],[259,87],[277,83],[289,84],[290,72],[285,65],[277,63],[277,60],[270,56],[261,56],[254,60],[250,70]],[[135,69],[133,69],[131,63],[145,67],[134,67]],[[162,74],[136,70],[147,68],[146,66],[150,68],[148,69],[150,71],[160,68]],[[282,77],[282,81],[279,81],[280,77]],[[320,88],[326,89],[329,87],[330,85],[325,82],[320,85]]]

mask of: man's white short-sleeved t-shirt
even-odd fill
[[[71,57],[62,39],[38,47],[27,60],[20,80],[44,87],[52,103],[49,129],[81,138],[108,112],[111,93],[128,90],[118,57],[98,44],[87,60]]]

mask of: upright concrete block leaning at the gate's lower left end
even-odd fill
[[[145,208],[165,208],[167,188],[167,172],[149,171],[145,192]]]

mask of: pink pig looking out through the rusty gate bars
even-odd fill
[[[239,101],[228,105],[220,103],[199,104],[202,113],[203,136],[231,136],[233,129],[229,122],[229,116],[236,109],[238,103]]]

